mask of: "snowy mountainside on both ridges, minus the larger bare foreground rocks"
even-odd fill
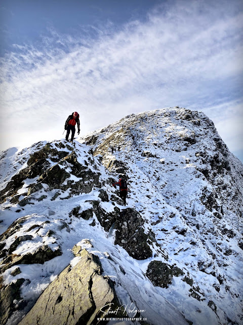
[[[65,141],[40,142],[1,155],[0,226],[2,234],[8,231],[2,251],[14,247],[12,254],[22,256],[48,245],[56,253],[44,264],[3,269],[4,285],[25,279],[21,300],[15,302],[22,307],[7,323],[17,324],[48,284],[76,263],[71,249],[79,243],[99,256],[120,303],[145,310],[142,316],[149,324],[188,324],[186,319],[201,325],[240,324],[243,167],[212,121],[179,108],[156,110],[127,116],[80,142],[75,147]],[[111,145],[120,145],[120,151],[111,154]],[[111,186],[124,174],[128,207]],[[86,219],[72,213],[76,207],[79,214],[90,211],[94,201],[107,220],[116,209],[138,211],[145,234],[153,233],[158,244],[149,244],[151,257],[135,259],[114,244],[114,224],[101,222],[95,210]],[[12,224],[15,220],[21,226]],[[15,244],[23,236],[32,237]],[[152,261],[174,265],[183,275],[173,276],[168,287],[155,286],[146,275]],[[11,275],[17,268],[21,273]]]

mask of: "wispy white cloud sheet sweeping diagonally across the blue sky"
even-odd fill
[[[129,113],[175,105],[217,111],[216,126],[233,118],[243,102],[240,2],[171,4],[119,30],[111,22],[72,36],[51,29],[42,44],[16,45],[1,61],[1,131],[60,138],[73,111],[85,134]]]

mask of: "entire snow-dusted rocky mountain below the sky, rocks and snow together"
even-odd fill
[[[203,113],[131,114],[1,166],[1,323],[242,322],[243,165]]]

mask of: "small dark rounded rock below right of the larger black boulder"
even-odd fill
[[[173,271],[166,263],[152,261],[149,263],[146,275],[155,286],[168,288],[173,277]]]

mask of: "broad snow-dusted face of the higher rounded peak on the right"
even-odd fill
[[[212,323],[241,323],[243,166],[213,122],[178,107],[155,110],[129,115],[83,141],[117,177],[117,166],[124,166],[129,204],[142,213],[169,262],[187,270],[202,299],[215,303]],[[210,323],[179,279],[156,290],[193,323]]]

